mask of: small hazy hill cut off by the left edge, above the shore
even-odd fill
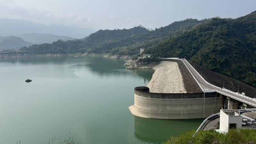
[[[6,36],[0,37],[0,50],[19,49],[20,47],[29,46],[31,43],[24,41],[20,37]]]

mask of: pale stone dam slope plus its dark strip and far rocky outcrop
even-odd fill
[[[161,93],[201,93],[202,90],[191,76],[188,68],[181,60],[161,61],[141,65],[137,60],[128,60],[124,64],[127,69],[153,68],[155,73],[148,84],[150,92]]]

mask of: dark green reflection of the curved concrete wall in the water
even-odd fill
[[[134,116],[134,135],[145,143],[162,143],[180,132],[197,129],[203,119],[163,120]]]

